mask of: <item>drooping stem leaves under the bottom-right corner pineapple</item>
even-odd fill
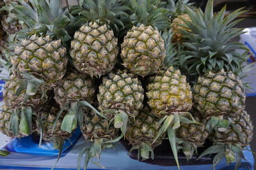
[[[236,162],[235,170],[237,170],[241,165],[241,160],[245,160],[243,150],[244,149],[241,148],[241,146],[218,143],[217,145],[213,145],[207,148],[204,152],[202,152],[199,155],[199,157],[196,160],[204,157],[205,155],[217,153],[212,160],[213,167],[215,167],[218,163],[220,163],[221,160],[223,160],[223,158],[225,158],[227,163]]]

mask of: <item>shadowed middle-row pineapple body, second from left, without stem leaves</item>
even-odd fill
[[[95,85],[89,76],[73,71],[58,82],[54,94],[56,102],[61,108],[65,108],[65,104],[70,102],[92,101],[95,95]]]

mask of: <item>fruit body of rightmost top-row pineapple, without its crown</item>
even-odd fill
[[[140,76],[156,73],[165,57],[164,40],[157,29],[132,27],[121,45],[124,66]]]

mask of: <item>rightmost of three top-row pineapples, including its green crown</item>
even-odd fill
[[[121,45],[121,57],[123,65],[140,76],[157,73],[165,57],[164,40],[159,31],[170,27],[170,23],[163,9],[156,8],[157,4],[159,1],[131,1],[130,19],[134,26]]]

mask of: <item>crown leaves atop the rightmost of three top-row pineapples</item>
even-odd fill
[[[159,31],[170,28],[170,20],[166,17],[164,8],[158,8],[159,0],[130,0],[132,15],[130,20],[133,25],[154,26]]]

